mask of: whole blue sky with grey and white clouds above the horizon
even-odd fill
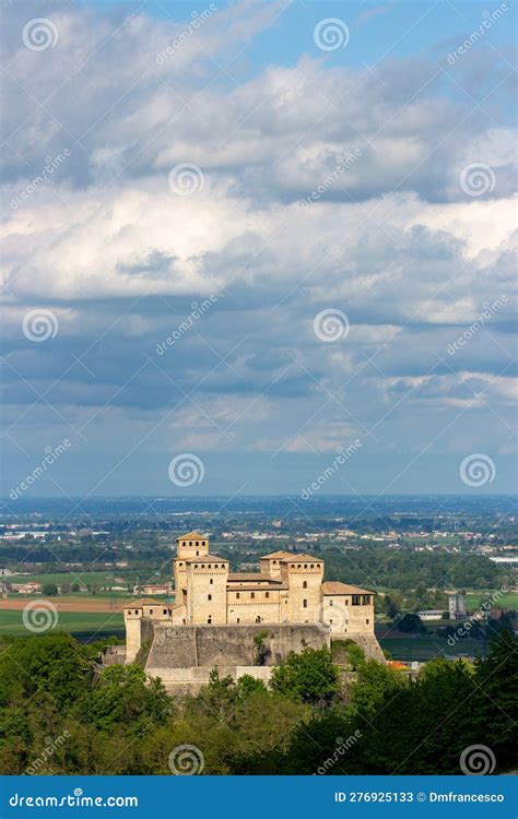
[[[2,22],[13,510],[516,491],[514,2]]]

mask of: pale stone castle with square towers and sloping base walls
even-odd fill
[[[174,605],[149,598],[125,607],[126,662],[148,646],[146,670],[170,685],[203,681],[214,666],[268,678],[256,662],[258,640],[266,643],[266,666],[338,639],[382,661],[374,592],[325,582],[315,555],[274,551],[260,559],[259,572],[231,572],[228,560],[211,554],[207,535],[189,532],[177,538],[173,568]]]

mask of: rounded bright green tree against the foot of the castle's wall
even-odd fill
[[[304,649],[301,654],[290,652],[273,669],[272,690],[296,701],[325,705],[338,693],[338,668],[328,649]]]

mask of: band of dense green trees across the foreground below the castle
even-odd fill
[[[268,689],[214,670],[184,698],[137,664],[99,676],[92,646],[64,633],[0,648],[0,773],[167,774],[184,744],[200,749],[209,774],[459,773],[474,744],[492,749],[496,770],[517,763],[509,631],[474,666],[439,658],[414,680],[357,646],[349,646],[354,672],[306,649],[275,668]]]

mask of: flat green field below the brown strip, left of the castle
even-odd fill
[[[28,637],[28,631],[23,625],[23,612],[11,612],[0,609],[0,634],[13,637]],[[119,613],[108,612],[59,612],[56,629],[69,631],[81,642],[86,642],[101,637],[125,636],[123,616]],[[49,633],[46,631],[45,633]]]

